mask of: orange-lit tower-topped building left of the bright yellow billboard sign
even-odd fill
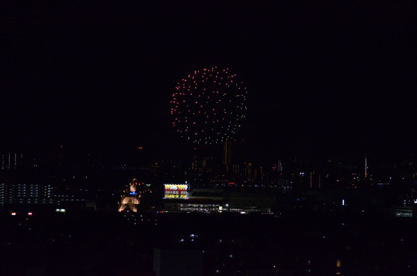
[[[143,205],[145,193],[150,193],[145,183],[140,183],[137,179],[133,179],[129,187],[123,191],[122,199],[119,204],[119,211],[139,211],[139,206]]]

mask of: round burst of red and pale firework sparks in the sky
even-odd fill
[[[234,138],[245,117],[247,90],[229,69],[212,67],[181,79],[172,94],[172,125],[195,144]]]

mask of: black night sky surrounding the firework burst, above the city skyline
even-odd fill
[[[414,1],[195,2],[3,1],[1,151],[175,159],[172,92],[219,66],[247,87],[255,156],[416,152]]]

